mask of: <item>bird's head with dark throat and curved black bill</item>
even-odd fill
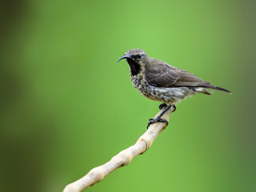
[[[148,56],[144,50],[134,49],[128,50],[125,55],[118,59],[118,62],[123,58],[126,58],[126,61],[130,66],[131,74],[135,75],[145,68]]]

